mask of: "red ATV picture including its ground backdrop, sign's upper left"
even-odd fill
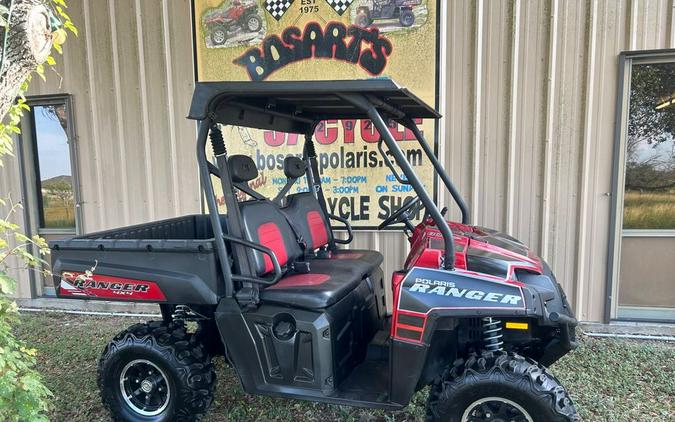
[[[225,0],[202,15],[207,47],[247,45],[265,36],[265,23],[255,0]]]

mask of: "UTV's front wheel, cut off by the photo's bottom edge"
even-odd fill
[[[427,402],[428,422],[579,420],[565,388],[546,368],[506,352],[457,360]]]

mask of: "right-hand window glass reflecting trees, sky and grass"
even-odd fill
[[[675,230],[675,63],[633,64],[624,229]]]

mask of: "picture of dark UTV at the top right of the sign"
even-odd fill
[[[393,32],[424,25],[428,14],[426,0],[358,0],[351,21],[361,28]]]

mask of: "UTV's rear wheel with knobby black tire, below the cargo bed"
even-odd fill
[[[182,324],[150,322],[122,331],[99,361],[98,386],[115,421],[195,421],[213,400],[215,372]]]

